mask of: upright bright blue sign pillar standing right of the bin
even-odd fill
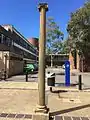
[[[65,85],[70,86],[70,62],[65,61]]]

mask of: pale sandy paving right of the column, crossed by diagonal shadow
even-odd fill
[[[90,93],[68,92],[56,96],[51,95],[49,107],[51,112],[56,115],[90,117]]]

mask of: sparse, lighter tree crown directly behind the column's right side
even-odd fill
[[[63,33],[52,17],[47,19],[46,53],[57,53],[62,49]]]

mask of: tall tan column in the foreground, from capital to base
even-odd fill
[[[40,11],[40,38],[39,38],[39,107],[37,111],[47,112],[45,105],[45,43],[46,43],[46,3],[39,4]]]

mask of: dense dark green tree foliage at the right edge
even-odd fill
[[[78,49],[84,56],[90,54],[90,2],[71,14],[67,31],[70,49]]]

